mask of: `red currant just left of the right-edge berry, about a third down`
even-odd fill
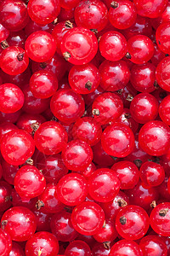
[[[131,68],[130,82],[140,92],[152,92],[156,90],[156,67],[150,62],[144,65],[133,65]]]

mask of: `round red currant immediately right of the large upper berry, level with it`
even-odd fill
[[[127,40],[120,32],[106,32],[99,39],[101,55],[108,61],[120,61],[127,53]]]

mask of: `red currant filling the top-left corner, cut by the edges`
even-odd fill
[[[9,31],[20,31],[29,21],[26,3],[22,0],[5,0],[0,3],[1,23]]]

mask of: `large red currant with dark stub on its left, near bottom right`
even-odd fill
[[[143,237],[149,226],[150,219],[142,207],[122,207],[117,213],[116,230],[124,239],[137,240]]]

